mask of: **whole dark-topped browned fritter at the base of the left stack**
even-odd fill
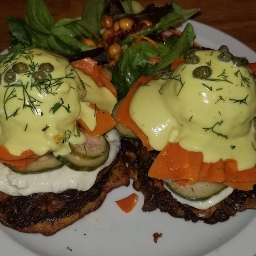
[[[53,235],[97,210],[114,188],[129,185],[122,160],[101,175],[94,186],[84,192],[67,190],[59,194],[37,193],[21,197],[0,193],[0,222],[21,232]]]

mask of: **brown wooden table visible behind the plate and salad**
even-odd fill
[[[140,0],[144,4],[168,0]],[[255,0],[176,0],[183,8],[199,7],[201,14],[194,20],[221,30],[256,51],[256,1]],[[0,50],[10,44],[6,16],[23,18],[26,0],[2,1],[0,8]],[[55,20],[63,17],[80,17],[84,0],[44,0]],[[255,60],[256,61],[256,60]]]

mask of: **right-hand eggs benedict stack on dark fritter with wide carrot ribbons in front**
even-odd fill
[[[144,211],[213,224],[256,206],[256,82],[226,46],[177,61],[159,80],[140,78],[118,110],[142,141],[124,139],[137,156],[129,175]]]

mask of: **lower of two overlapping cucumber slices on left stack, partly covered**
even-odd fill
[[[81,158],[72,152],[64,156],[59,155],[57,159],[75,171],[94,171],[97,169],[97,167],[103,165],[106,162],[108,159],[109,150],[110,145],[107,143],[107,149],[105,152],[96,158]]]

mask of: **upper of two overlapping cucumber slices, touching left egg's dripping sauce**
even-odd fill
[[[83,132],[83,131],[81,131]],[[81,144],[69,143],[73,155],[79,156],[82,159],[95,159],[106,153],[109,150],[109,143],[104,136],[92,137],[85,134],[85,142]]]

